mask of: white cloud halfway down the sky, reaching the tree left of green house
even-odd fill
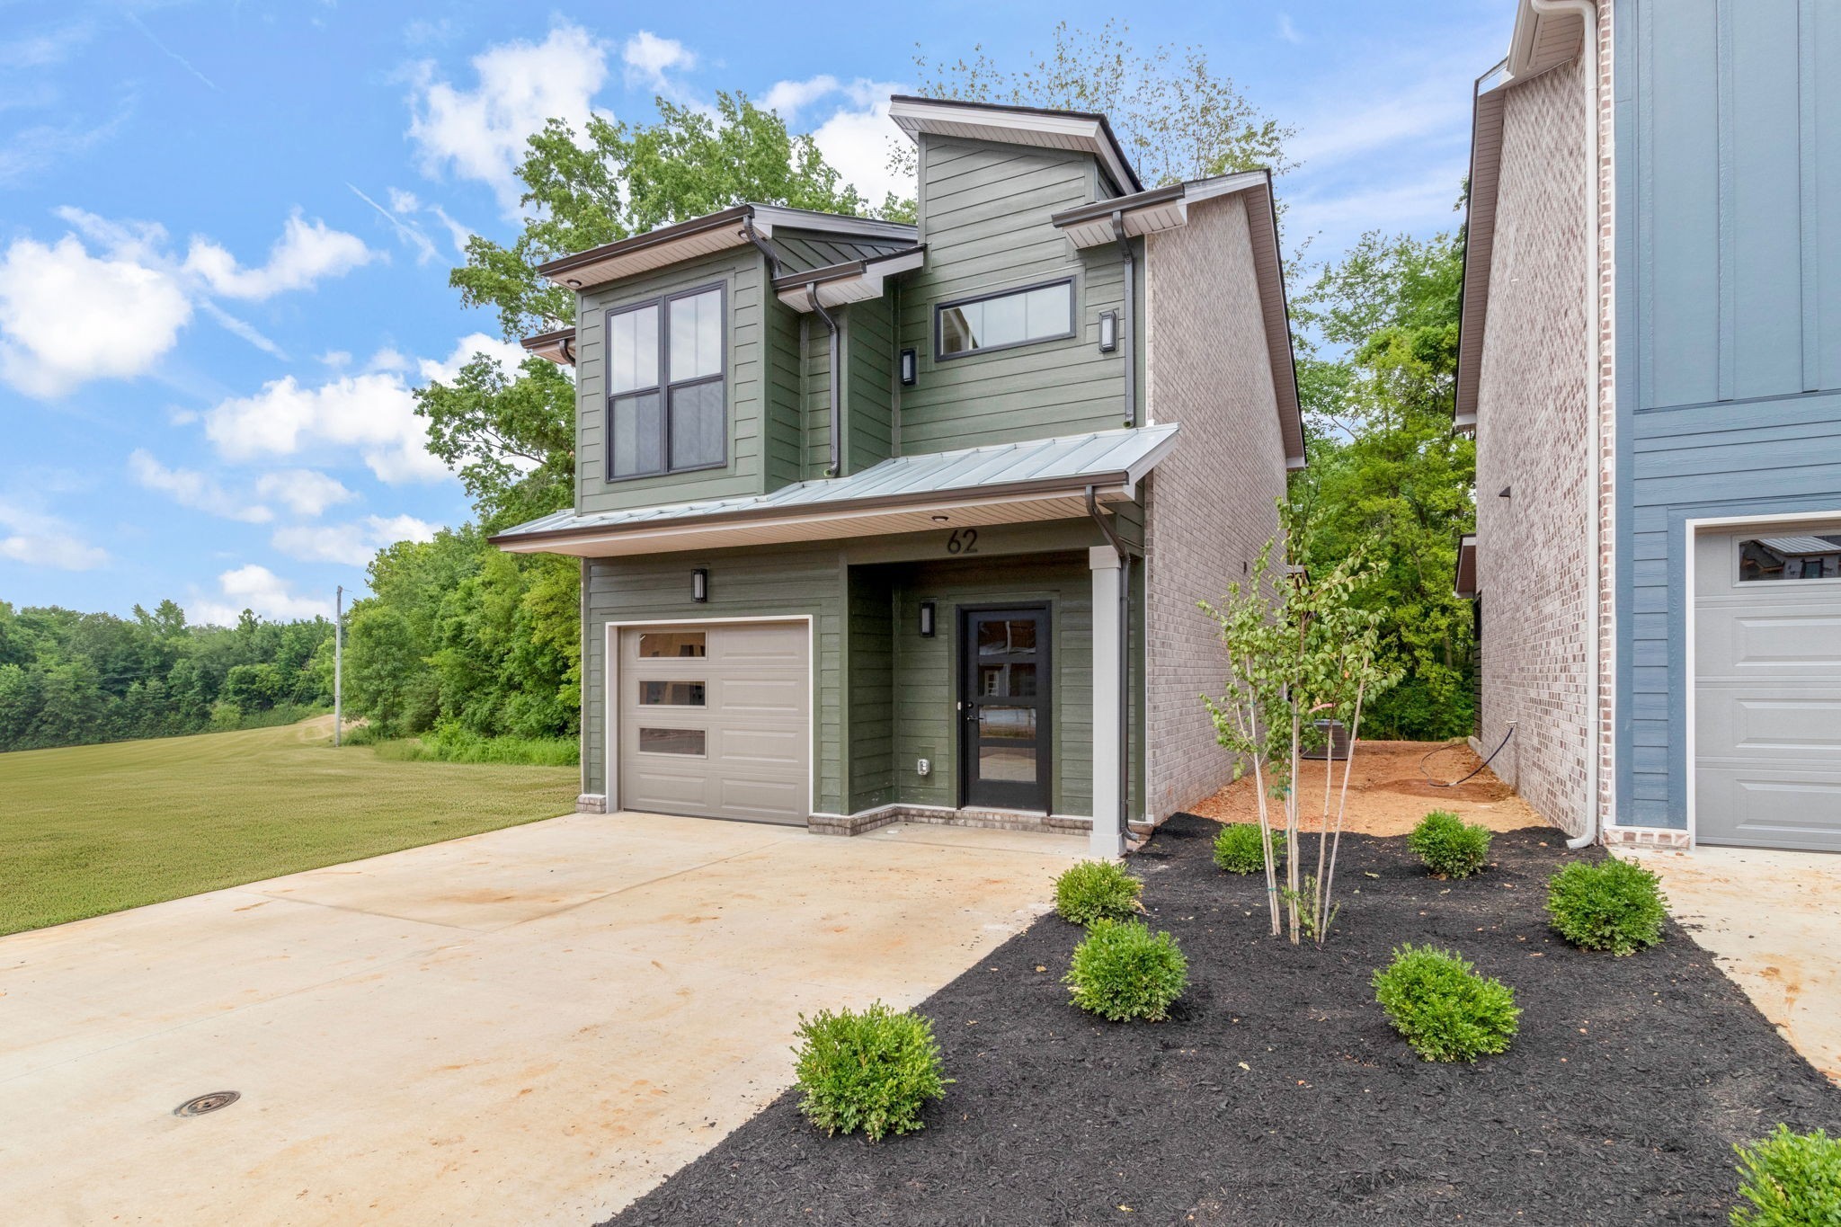
[[[357,375],[315,386],[285,375],[254,396],[221,401],[206,410],[204,434],[232,462],[352,449],[383,482],[438,482],[449,471],[427,451],[427,423],[416,416],[409,372],[422,383],[451,381],[475,353],[514,366],[525,357],[523,348],[486,333],[462,337],[446,359],[412,362],[396,350],[379,350]]]

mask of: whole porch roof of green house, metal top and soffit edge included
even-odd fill
[[[1176,423],[996,447],[895,456],[851,476],[793,482],[770,495],[622,511],[552,511],[492,537],[517,554],[615,557],[672,550],[836,541],[882,533],[1059,521],[1129,500],[1176,445]]]

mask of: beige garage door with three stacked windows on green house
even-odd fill
[[[620,631],[622,809],[757,822],[810,813],[805,622]]]

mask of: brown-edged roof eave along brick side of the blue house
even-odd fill
[[[1476,427],[1508,88],[1572,63],[1583,46],[1585,22],[1578,13],[1537,13],[1530,0],[1515,0],[1515,33],[1510,35],[1508,57],[1471,86],[1471,191],[1464,208],[1464,307],[1453,421],[1458,430]]]

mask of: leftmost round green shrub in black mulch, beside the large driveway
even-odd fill
[[[941,1076],[933,1025],[880,1001],[862,1014],[801,1014],[799,1041],[799,1111],[825,1133],[862,1130],[873,1142],[913,1133],[922,1128],[920,1107],[952,1082]]]

